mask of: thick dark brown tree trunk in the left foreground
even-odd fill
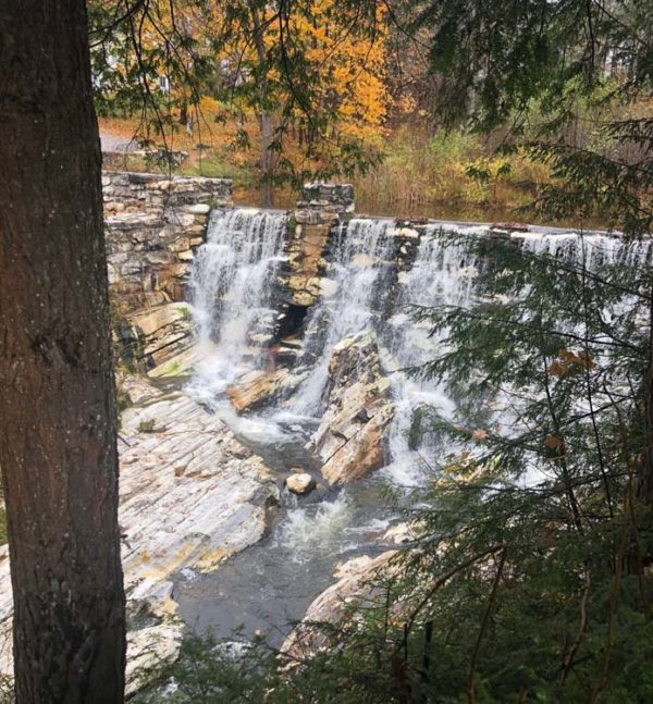
[[[84,0],[0,21],[0,466],[19,704],[123,701],[100,144]]]

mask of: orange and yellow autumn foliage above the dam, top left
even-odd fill
[[[144,144],[260,155],[270,182],[353,173],[385,133],[387,17],[335,0],[150,0],[121,33],[121,0],[91,2],[98,107]],[[121,36],[122,35],[122,36]]]

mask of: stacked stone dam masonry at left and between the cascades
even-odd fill
[[[190,342],[183,305],[194,250],[209,212],[232,206],[231,182],[104,172],[109,287],[125,362],[152,368]],[[291,215],[278,281],[278,325],[270,344],[281,365],[300,350],[306,314],[333,282],[324,277],[337,233],[354,212],[348,184],[308,184]],[[397,222],[397,272],[411,265],[420,226]]]

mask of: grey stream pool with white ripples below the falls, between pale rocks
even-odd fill
[[[249,640],[264,633],[280,646],[334,582],[338,563],[387,549],[383,535],[399,511],[386,502],[384,490],[377,477],[325,496],[297,498],[284,492],[270,535],[214,572],[182,570],[174,590],[181,617],[200,635]]]

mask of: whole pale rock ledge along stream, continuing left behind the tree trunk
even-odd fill
[[[182,569],[214,569],[259,541],[279,503],[262,460],[215,416],[182,392],[163,395],[145,381],[140,405],[122,416],[120,523],[127,621],[127,695],[139,675],[176,658],[184,633],[172,598]],[[149,386],[149,391],[148,387]],[[0,551],[0,670],[10,675],[12,593]]]

